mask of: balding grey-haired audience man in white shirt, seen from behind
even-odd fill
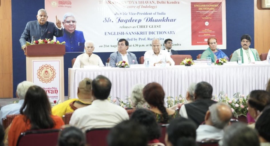
[[[196,141],[220,140],[223,138],[223,128],[229,125],[232,117],[231,107],[219,102],[212,104],[205,114],[205,124],[196,130]]]

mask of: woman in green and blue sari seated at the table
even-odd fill
[[[211,57],[212,62],[219,58],[225,58],[229,60],[229,57],[222,52],[219,48],[217,48],[217,38],[210,37],[207,40],[208,48],[202,53],[201,59],[207,59],[207,57]]]

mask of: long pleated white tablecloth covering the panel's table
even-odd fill
[[[88,77],[94,79],[104,75],[112,82],[112,97],[126,99],[130,96],[135,84],[158,82],[162,85],[165,96],[186,95],[190,83],[205,81],[213,86],[213,95],[224,91],[232,98],[240,92],[247,95],[252,90],[265,90],[270,78],[270,64],[257,62],[256,64],[238,65],[233,62],[222,66],[195,64],[192,66],[144,67],[131,66],[130,68],[69,68],[68,96],[77,97],[79,82]]]

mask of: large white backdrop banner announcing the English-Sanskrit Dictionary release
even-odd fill
[[[129,51],[152,49],[154,38],[173,41],[174,50],[205,50],[207,38],[226,49],[225,0],[45,0],[48,20],[73,13],[76,30],[95,43],[95,52],[115,52],[120,38]]]

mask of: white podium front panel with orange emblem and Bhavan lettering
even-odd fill
[[[33,83],[47,93],[51,104],[60,100],[60,60],[33,60]]]

